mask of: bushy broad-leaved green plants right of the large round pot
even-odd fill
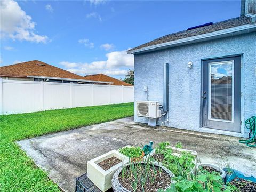
[[[168,142],[158,144],[156,153],[163,154],[163,165],[171,170],[176,177],[166,192],[235,192],[239,191],[234,185],[225,186],[220,174],[217,172],[209,173],[202,167],[194,172],[195,157],[183,151],[180,156],[175,156],[168,148]],[[176,145],[177,147],[177,145]],[[179,146],[180,147],[180,146]],[[227,161],[226,161],[227,162]],[[159,189],[158,192],[163,192]]]

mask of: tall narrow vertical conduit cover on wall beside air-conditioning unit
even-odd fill
[[[161,122],[161,126],[163,126],[164,123],[169,121],[169,64],[164,63],[164,103],[163,103],[163,110],[164,113],[161,115],[166,119],[166,121]],[[166,118],[165,118],[166,116]]]

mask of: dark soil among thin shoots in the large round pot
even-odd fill
[[[158,170],[158,166],[155,166],[155,169]],[[144,171],[144,168],[142,170],[138,170],[137,173]],[[151,167],[150,172],[153,173],[153,167]],[[120,184],[126,188],[127,190],[134,191],[132,188],[132,182],[134,181],[134,178],[129,180],[128,175],[130,174],[129,171],[126,171],[124,178],[122,178],[122,172],[119,174],[119,182]],[[162,170],[161,173],[157,171],[156,173],[156,179],[154,182],[150,182],[150,179],[146,180],[144,191],[145,192],[155,192],[158,189],[165,189],[171,185],[171,178],[169,174],[167,174],[164,170]],[[138,180],[137,183],[137,189],[136,192],[142,192],[142,187],[141,187],[141,181]]]

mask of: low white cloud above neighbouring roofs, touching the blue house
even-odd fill
[[[62,61],[61,65],[72,73],[81,75],[103,73],[107,75],[125,75],[127,68],[133,69],[133,55],[127,54],[126,50],[114,51],[106,54],[107,60],[94,61],[91,63]]]

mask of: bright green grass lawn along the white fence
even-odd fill
[[[59,191],[14,141],[132,115],[124,103],[0,116],[0,191]]]

